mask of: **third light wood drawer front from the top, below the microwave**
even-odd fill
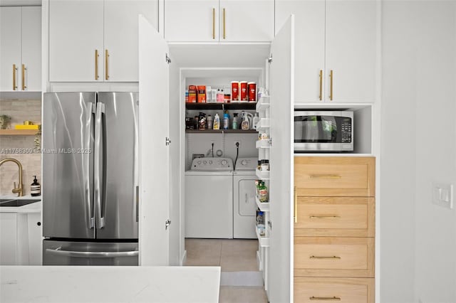
[[[298,277],[373,277],[374,238],[294,238]]]

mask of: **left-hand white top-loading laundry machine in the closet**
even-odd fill
[[[193,159],[185,172],[185,238],[233,238],[232,159]]]

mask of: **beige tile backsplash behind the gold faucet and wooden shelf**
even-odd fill
[[[0,100],[0,115],[11,116],[9,129],[15,124],[23,124],[28,120],[41,124],[41,100]],[[22,164],[22,181],[24,195],[30,195],[33,176],[41,184],[41,154],[33,153],[35,136],[0,136],[0,160],[14,158]],[[13,150],[11,150],[13,149]],[[21,149],[22,152],[14,151]],[[14,162],[6,162],[0,167],[0,196],[12,195],[11,190],[19,183],[19,170]]]

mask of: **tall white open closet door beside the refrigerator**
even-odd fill
[[[170,72],[167,43],[139,17],[140,265],[169,265]]]

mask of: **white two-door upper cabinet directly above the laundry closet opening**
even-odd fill
[[[172,42],[266,42],[274,37],[274,0],[165,0]]]

